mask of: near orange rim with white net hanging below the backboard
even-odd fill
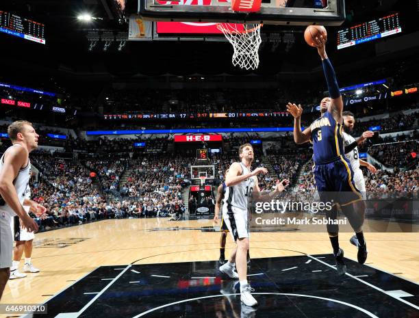
[[[233,45],[234,53],[231,59],[234,66],[255,70],[259,66],[259,46],[262,43],[260,38],[260,27],[262,25],[246,25],[244,29],[238,29],[239,24],[217,23],[217,28]],[[241,25],[240,25],[241,26]]]

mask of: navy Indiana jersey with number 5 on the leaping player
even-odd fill
[[[342,127],[329,111],[312,122],[310,141],[313,143],[314,163],[329,163],[339,159],[340,155],[344,156]]]

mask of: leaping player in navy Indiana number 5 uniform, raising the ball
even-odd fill
[[[338,203],[342,212],[348,217],[358,239],[358,262],[364,264],[367,258],[366,242],[362,232],[364,222],[363,204],[357,204],[362,196],[355,187],[351,163],[344,156],[343,100],[340,94],[335,70],[326,53],[326,40],[322,36],[316,38],[318,54],[322,59],[327,88],[330,97],[323,98],[320,103],[322,116],[314,120],[304,131],[301,131],[301,105],[288,103],[287,111],[294,117],[294,141],[303,144],[313,143],[314,180],[322,202]],[[331,211],[331,218],[337,207]],[[343,260],[344,251],[339,247],[338,227],[327,226],[333,255],[339,274],[346,273]]]

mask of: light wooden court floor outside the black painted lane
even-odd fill
[[[105,220],[36,234],[32,262],[40,273],[9,280],[1,303],[41,304],[102,265],[216,260],[220,233],[207,230],[213,225],[212,220]],[[356,259],[350,237],[341,233],[340,246]],[[368,265],[419,282],[419,233],[366,233],[366,239]],[[228,236],[226,256],[233,246]],[[252,258],[330,252],[326,233],[251,234]]]

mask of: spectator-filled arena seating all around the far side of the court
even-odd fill
[[[205,98],[206,101],[212,101],[212,98],[217,96],[221,98],[221,95],[195,94],[189,97],[185,95],[182,96],[186,98],[182,107],[185,105],[201,107]],[[173,98],[172,95],[160,97]],[[144,98],[147,101],[147,96]],[[240,100],[244,97],[237,96],[237,98]],[[249,94],[246,94],[246,98],[250,98]],[[223,98],[220,99],[222,100]],[[214,107],[220,105],[214,104]],[[251,107],[255,105],[249,102],[249,109]],[[218,108],[207,108],[206,111],[216,109]],[[313,117],[314,114],[310,116]],[[303,124],[307,125],[312,120],[310,116],[305,118]],[[285,121],[289,122],[290,118],[268,120],[264,124],[275,126]],[[225,127],[223,122],[214,123],[216,123],[214,127],[217,125]],[[175,122],[162,124],[161,127],[180,128],[182,125],[184,124]],[[260,126],[260,122],[229,123],[230,127],[252,125]],[[416,114],[400,113],[388,120],[358,122],[355,135],[373,125],[381,125],[381,133],[403,132],[407,129],[416,129],[418,120]],[[136,139],[101,137],[99,140],[87,141],[83,138],[73,138],[68,134],[67,139],[62,141],[47,137],[47,133],[62,134],[60,129],[45,129],[42,126],[36,126],[36,129],[40,135],[40,144],[60,146],[66,151],[66,153],[51,154],[38,150],[31,154],[31,162],[40,170],[38,181],[33,183],[33,198],[48,209],[46,215],[36,218],[41,230],[109,217],[162,217],[172,213],[183,213],[186,210],[181,200],[181,192],[191,184],[190,165],[194,164],[194,152],[177,149],[174,156],[173,150],[170,150],[172,140],[168,135],[147,140],[142,137]],[[0,130],[7,131],[7,124],[1,125]],[[290,187],[294,191],[307,193],[315,191],[311,173],[313,163],[309,159],[310,146],[309,144],[297,146],[291,133],[281,137],[265,137],[257,133],[226,135],[223,144],[224,153],[210,158],[209,164],[213,164],[216,171],[216,178],[211,184],[218,185],[223,181],[225,170],[233,161],[238,160],[240,144],[259,139],[272,143],[265,148],[254,146],[253,168],[264,166],[269,170],[269,174],[258,178],[259,188],[262,191],[271,190],[275,187],[275,182],[283,178],[290,179],[292,182]],[[377,174],[364,170],[368,191],[417,191],[419,172],[417,140],[416,130],[407,135],[398,133],[392,137],[389,135],[380,137],[380,144],[374,146],[363,144],[360,147],[360,151],[368,152],[387,168],[395,168],[393,172],[379,171]],[[3,152],[10,142],[6,138],[2,141]],[[134,148],[134,142],[146,142],[147,146]]]

